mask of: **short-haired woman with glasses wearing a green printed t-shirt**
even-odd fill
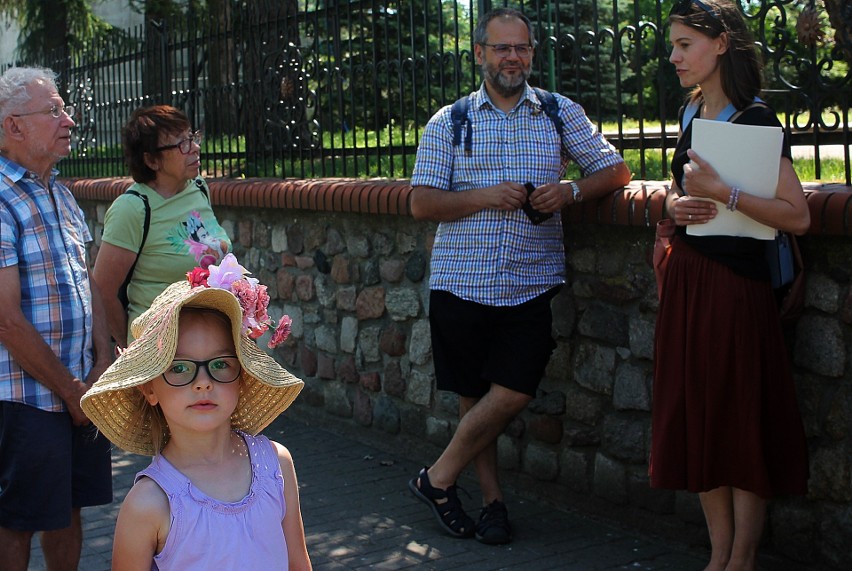
[[[110,332],[126,347],[133,319],[192,268],[219,263],[231,242],[199,176],[201,133],[183,112],[168,105],[137,109],[121,136],[136,182],[107,210],[93,277]]]

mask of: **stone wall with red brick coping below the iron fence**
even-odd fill
[[[72,185],[95,236],[125,183],[112,181],[108,192],[100,192],[104,183]],[[457,422],[457,400],[435,390],[431,360],[435,225],[407,215],[403,183],[292,194],[234,184],[211,182],[214,206],[236,255],[269,285],[270,313],[293,318],[276,357],[306,383],[294,413],[433,459]],[[852,195],[832,194],[809,196],[814,223],[800,238],[806,308],[788,332],[810,449],[809,493],[770,504],[764,544],[785,565],[849,569]],[[553,301],[558,346],[538,398],[500,437],[500,464],[523,493],[703,543],[696,496],[648,487],[657,309],[649,260],[661,198],[659,188],[634,183],[566,212],[567,283]]]

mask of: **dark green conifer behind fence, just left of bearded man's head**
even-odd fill
[[[332,131],[424,124],[478,83],[470,11],[441,0],[317,2],[306,39],[311,89]],[[357,110],[357,111],[356,111]]]

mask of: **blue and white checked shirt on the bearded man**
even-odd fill
[[[412,186],[452,192],[503,181],[535,186],[559,182],[569,160],[585,174],[622,163],[621,156],[588,120],[582,107],[554,94],[565,123],[560,145],[553,122],[527,85],[518,104],[503,113],[481,87],[470,95],[470,156],[453,147],[451,106],[430,119],[411,176]],[[560,152],[562,148],[562,152]],[[534,226],[522,210],[482,210],[441,222],[435,235],[429,287],[492,306],[528,301],[565,282],[562,223],[557,212]]]

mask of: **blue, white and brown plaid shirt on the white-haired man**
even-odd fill
[[[17,266],[21,311],[69,371],[92,368],[92,293],[86,242],[92,239],[71,192],[0,157],[0,267]],[[0,343],[0,400],[65,410],[58,395],[21,369]]]

